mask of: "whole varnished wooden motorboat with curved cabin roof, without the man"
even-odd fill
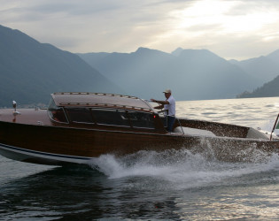
[[[105,154],[189,149],[224,161],[278,153],[279,141],[251,127],[177,118],[172,133],[135,96],[54,93],[48,109],[0,110],[0,154],[35,164],[89,164]]]

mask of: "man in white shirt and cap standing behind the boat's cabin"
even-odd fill
[[[165,114],[167,116],[167,131],[172,132],[174,121],[175,121],[175,100],[172,95],[172,91],[167,89],[163,92],[166,96],[166,101],[158,101],[151,99],[151,102],[159,103],[161,105],[154,107],[155,109],[163,109],[165,110]]]

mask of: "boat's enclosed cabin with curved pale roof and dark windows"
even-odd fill
[[[130,96],[55,93],[50,99],[48,114],[55,124],[166,131],[158,113],[149,104]]]

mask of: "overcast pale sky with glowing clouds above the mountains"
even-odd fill
[[[279,49],[278,0],[0,0],[0,24],[71,52]],[[1,36],[0,36],[1,37]]]

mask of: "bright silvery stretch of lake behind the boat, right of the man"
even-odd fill
[[[177,102],[177,116],[199,118],[240,126],[273,126],[279,97]]]

